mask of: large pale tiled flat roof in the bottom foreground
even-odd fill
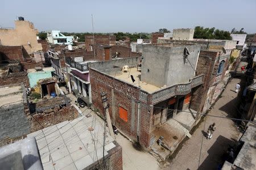
[[[89,131],[92,126],[94,130]],[[105,156],[116,147],[106,130]],[[103,157],[104,124],[97,116],[81,116],[27,136],[36,138],[45,170],[84,169]]]

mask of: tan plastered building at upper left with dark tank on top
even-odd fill
[[[24,51],[29,56],[34,52],[42,50],[42,45],[38,43],[34,24],[27,20],[15,20],[14,29],[0,28],[0,44],[4,46],[23,46]]]

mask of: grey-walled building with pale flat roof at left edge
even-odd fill
[[[27,103],[23,83],[0,87],[0,146],[5,140],[22,137],[30,132],[30,124],[24,114]]]

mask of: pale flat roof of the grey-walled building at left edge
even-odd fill
[[[0,87],[0,107],[6,104],[23,103],[23,88],[21,85],[10,85]]]

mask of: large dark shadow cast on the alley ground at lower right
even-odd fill
[[[213,134],[214,135],[214,134]],[[208,142],[205,140],[204,142]],[[218,169],[218,167],[221,167],[222,164],[225,162],[225,153],[228,151],[228,148],[230,146],[234,146],[236,144],[236,141],[232,141],[228,138],[223,137],[220,135],[216,142],[213,143],[212,147],[209,148],[207,151],[208,156],[204,160],[203,163],[201,163],[199,170],[204,169]]]

